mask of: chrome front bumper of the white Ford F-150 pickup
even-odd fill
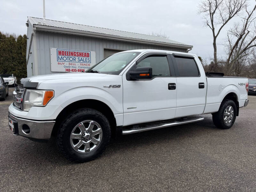
[[[16,124],[18,129],[15,132],[16,135],[39,140],[47,140],[51,138],[52,129],[55,121],[36,121],[23,119],[13,116],[11,113],[9,113],[8,116],[10,119],[14,120],[18,124]]]

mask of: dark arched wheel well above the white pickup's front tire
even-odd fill
[[[111,126],[111,132],[112,132],[112,134],[115,134],[116,118],[115,118],[114,113],[111,110],[111,108],[106,103],[104,103],[100,100],[84,99],[84,100],[78,100],[73,103],[70,103],[69,105],[67,105],[65,108],[62,109],[62,111],[59,113],[59,115],[56,118],[56,122],[52,129],[52,135],[57,134],[57,132],[60,128],[60,124],[66,116],[68,116],[72,111],[80,109],[80,108],[92,108],[92,109],[100,111],[102,114],[104,114],[108,118],[110,126]]]

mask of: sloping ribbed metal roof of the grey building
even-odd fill
[[[108,28],[100,28],[100,27],[92,27],[88,25],[81,25],[81,24],[75,24],[75,23],[68,23],[63,21],[56,21],[56,20],[45,20],[45,24],[43,24],[42,18],[36,18],[36,17],[28,17],[28,21],[34,26],[34,27],[44,27],[44,28],[58,28],[58,29],[70,29],[70,30],[76,30],[76,31],[84,31],[84,32],[90,32],[94,34],[101,34],[101,35],[108,35],[108,36],[114,36],[116,38],[129,38],[129,39],[138,39],[140,41],[146,41],[147,43],[155,42],[158,44],[165,44],[169,46],[182,46],[184,48],[192,48],[192,45],[180,43],[177,41],[173,41],[167,38],[158,37],[158,36],[151,36],[151,35],[145,35],[145,34],[139,34],[139,33],[132,33],[132,32],[126,32],[126,31],[120,31],[120,30],[114,30],[114,29],[108,29]],[[60,31],[60,30],[59,30]]]

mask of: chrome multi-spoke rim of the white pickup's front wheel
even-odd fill
[[[70,135],[70,144],[77,152],[88,153],[99,146],[101,139],[100,124],[86,120],[74,127]]]

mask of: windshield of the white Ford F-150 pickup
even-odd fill
[[[105,74],[119,75],[119,73],[138,55],[140,52],[120,52],[107,57],[86,72],[99,72]]]

